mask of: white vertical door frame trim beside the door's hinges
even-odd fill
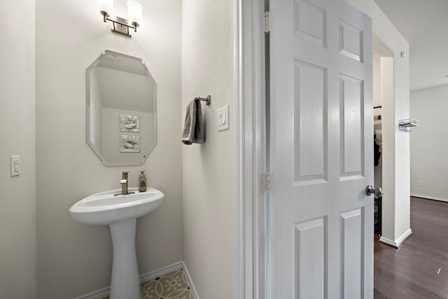
[[[266,298],[263,0],[234,0],[235,298]],[[260,222],[261,221],[261,222]]]

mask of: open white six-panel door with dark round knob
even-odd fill
[[[275,299],[373,298],[372,28],[340,0],[272,0]]]

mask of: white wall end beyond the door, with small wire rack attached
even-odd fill
[[[402,51],[409,53],[409,43],[374,0],[345,1],[370,15],[373,33],[393,52],[393,55],[386,57],[384,61],[386,68],[389,68],[386,71],[393,74],[393,87],[391,92],[386,90],[382,98],[383,202],[389,206],[383,205],[381,241],[399,245],[411,232],[409,133],[398,130],[398,120],[409,118],[409,58],[400,57]],[[381,88],[384,90],[384,87]]]

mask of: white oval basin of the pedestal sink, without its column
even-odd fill
[[[162,204],[162,192],[148,188],[139,192],[138,188],[129,188],[127,195],[116,195],[120,190],[95,193],[73,204],[69,209],[71,218],[80,223],[106,225],[139,218],[157,209]]]

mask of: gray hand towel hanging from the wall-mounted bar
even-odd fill
[[[201,102],[197,99],[193,99],[187,106],[182,142],[188,145],[204,143]]]

